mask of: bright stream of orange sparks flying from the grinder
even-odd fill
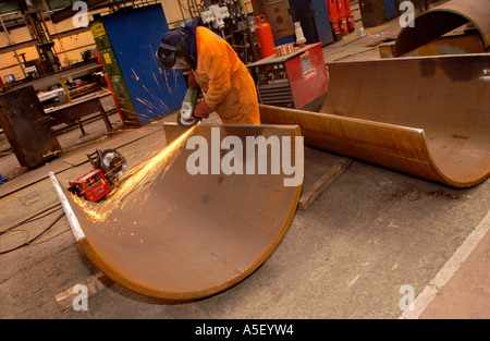
[[[179,136],[179,138],[173,141],[156,156],[133,168],[130,171],[130,174],[125,175],[124,179],[122,179],[121,185],[118,188],[113,190],[103,202],[93,206],[84,199],[81,199],[77,196],[73,196],[75,203],[78,204],[82,209],[84,209],[84,211],[93,222],[106,221],[107,217],[112,212],[113,209],[123,208],[126,204],[128,204],[127,200],[125,200],[127,196],[132,193],[137,192],[146,183],[151,181],[151,178],[158,170],[161,169],[161,176],[164,176],[166,172],[169,170],[169,168],[177,157],[181,145],[187,139],[194,129],[195,126]],[[147,198],[147,195],[145,196],[145,198]],[[138,204],[143,206],[143,203],[144,200]],[[135,203],[133,202],[130,204],[133,205]]]

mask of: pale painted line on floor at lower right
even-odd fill
[[[483,220],[480,221],[471,234],[469,234],[465,242],[456,249],[454,255],[445,263],[434,279],[424,289],[417,299],[415,299],[414,310],[405,310],[399,318],[418,318],[432,302],[433,297],[436,297],[438,291],[449,282],[460,268],[461,264],[469,256],[489,230],[490,214],[487,212]]]

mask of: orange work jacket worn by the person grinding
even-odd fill
[[[254,80],[232,47],[210,29],[196,29],[194,76],[208,107],[223,123],[260,124]]]

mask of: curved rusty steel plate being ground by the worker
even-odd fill
[[[294,142],[301,135],[297,126],[199,124],[191,137],[204,136],[210,146],[217,142],[211,142],[211,127],[218,127],[221,141],[240,137],[244,148],[247,136],[291,136]],[[94,222],[61,186],[74,211],[70,215],[65,208],[66,215],[75,217],[82,231],[74,229],[78,243],[113,281],[148,296],[200,299],[245,279],[280,243],[301,185],[284,186],[282,171],[191,175],[186,162],[196,149],[180,145],[174,160],[161,162],[150,184],[124,197],[101,222]],[[302,161],[303,149],[301,159],[295,159],[294,149],[292,157],[293,165]],[[61,196],[60,200],[64,202]]]

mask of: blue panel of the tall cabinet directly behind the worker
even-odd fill
[[[169,31],[160,3],[102,16],[139,121],[181,108],[187,86],[181,71],[160,66],[155,52]]]

